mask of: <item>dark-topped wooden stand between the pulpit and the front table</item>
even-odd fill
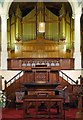
[[[58,83],[23,83],[27,95],[54,95],[58,85]]]

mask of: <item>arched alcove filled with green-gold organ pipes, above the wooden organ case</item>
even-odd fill
[[[9,47],[11,48],[11,51],[14,52],[14,50],[16,49],[14,46],[16,42],[34,40],[34,39],[37,39],[37,37],[44,35],[45,39],[48,39],[54,42],[60,41],[61,44],[64,44],[64,45],[59,45],[58,48],[63,49],[62,51],[65,51],[65,52],[67,51],[68,53],[68,55],[66,55],[67,57],[69,56],[70,52],[73,51],[71,49],[73,49],[73,40],[74,40],[73,23],[72,23],[73,20],[71,18],[72,17],[71,6],[68,1],[67,2],[44,2],[43,4],[45,6],[45,12],[42,9],[44,8],[42,7],[42,4],[39,4],[39,7],[38,7],[36,2],[34,2],[33,4],[32,2],[16,3],[13,1],[9,9],[10,21],[12,21],[12,18],[13,18],[13,20],[15,22],[17,21],[20,26],[22,25],[22,27],[19,27],[17,23],[14,26],[13,24],[15,23],[14,21],[11,23],[10,26],[11,26],[11,31],[13,31],[13,33],[11,34],[12,40],[11,38],[8,39],[9,40],[8,43],[11,42]],[[30,14],[31,14],[31,18],[30,18]],[[40,19],[39,18],[40,14],[42,15],[41,21],[44,20],[45,22],[46,29],[44,34],[40,34],[38,32],[38,22]],[[27,17],[27,15],[29,17]],[[70,35],[71,31],[72,31],[72,35]],[[61,48],[62,46],[63,48]],[[64,55],[65,53],[63,53],[63,55],[61,54],[62,53],[60,50],[58,57],[65,56]],[[72,57],[72,53],[70,56]],[[54,57],[54,55],[52,57]]]

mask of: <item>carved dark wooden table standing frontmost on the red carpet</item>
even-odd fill
[[[35,95],[35,96],[27,96],[24,98],[24,118],[27,117],[51,117],[56,116],[56,114],[59,114],[59,116],[62,116],[62,110],[63,110],[63,98],[60,96],[46,96],[46,95]],[[44,113],[44,108],[42,109],[43,112],[39,112],[39,106],[41,104],[44,104],[46,106],[46,112]],[[35,114],[29,112],[30,106],[34,106],[35,108]],[[54,106],[54,110],[57,108],[57,113],[54,112],[52,114],[51,107]],[[42,107],[41,107],[42,108]]]

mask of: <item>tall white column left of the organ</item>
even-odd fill
[[[1,69],[7,69],[7,14],[1,15]]]

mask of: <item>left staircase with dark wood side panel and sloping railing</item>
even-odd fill
[[[15,99],[15,92],[22,90],[22,83],[24,80],[24,72],[21,71],[17,75],[15,75],[9,81],[5,80],[5,89],[4,92],[6,93],[7,99],[14,100]]]

